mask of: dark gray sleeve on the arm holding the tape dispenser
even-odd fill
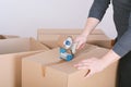
[[[110,0],[94,0],[88,13],[88,17],[95,17],[102,21],[109,4]]]

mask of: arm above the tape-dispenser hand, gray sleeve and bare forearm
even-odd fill
[[[109,4],[110,0],[94,0],[88,13],[86,25],[81,34],[82,36],[87,37],[90,33],[98,25]]]

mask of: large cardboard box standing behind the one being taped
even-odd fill
[[[38,29],[37,39],[50,49],[58,47],[57,40],[61,35],[75,38],[82,29]],[[105,48],[112,47],[112,39],[107,37],[102,29],[95,29],[87,37],[87,42]]]

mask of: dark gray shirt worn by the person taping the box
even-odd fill
[[[110,0],[94,0],[88,17],[102,21]],[[123,57],[131,51],[131,0],[112,0],[114,21],[118,32],[112,50]]]

